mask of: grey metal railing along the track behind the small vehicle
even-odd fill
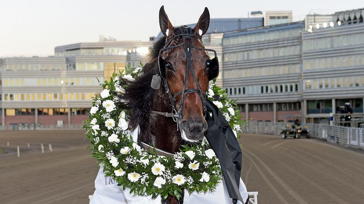
[[[330,126],[322,124],[302,124],[307,126],[310,136],[326,140],[329,143],[336,143],[347,147],[364,149],[364,129],[350,128],[344,126]],[[250,121],[243,127],[243,132],[254,134],[280,135],[285,127],[282,122],[257,122]]]

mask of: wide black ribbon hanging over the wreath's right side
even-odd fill
[[[238,200],[245,203],[239,192],[242,170],[242,150],[239,142],[219,108],[210,100],[206,100],[206,108],[212,113],[212,118],[208,113],[205,117],[208,124],[206,139],[220,161],[229,197],[233,199],[233,204]]]

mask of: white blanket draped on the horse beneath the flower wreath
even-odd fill
[[[137,142],[138,131],[139,128],[133,131],[133,140],[135,142]],[[102,167],[100,167],[95,180],[95,192],[93,196],[90,196],[90,204],[161,204],[160,196],[152,199],[151,196],[134,196],[130,194],[128,188],[122,190],[116,181],[105,176]],[[242,179],[240,179],[239,191],[246,203],[249,196]],[[214,191],[207,191],[206,193],[192,192],[189,194],[185,190],[183,204],[232,204],[232,199],[229,197],[222,178]],[[242,202],[238,201],[237,204],[242,204]]]

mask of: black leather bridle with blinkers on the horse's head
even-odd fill
[[[197,49],[197,50],[202,50],[202,51],[211,51],[214,53],[215,57],[213,59],[210,59],[207,61],[206,66],[209,69],[209,80],[212,80],[214,78],[216,78],[219,75],[219,61],[218,61],[218,57],[216,55],[216,51],[212,50],[212,49],[206,49],[206,48],[199,48],[194,46],[193,44],[193,39],[196,38],[198,39],[201,44],[202,44],[202,39],[201,36],[197,36],[193,33],[193,29],[184,25],[182,27],[177,28],[180,31],[180,34],[172,37],[171,39],[169,39],[168,41],[166,40],[164,47],[159,51],[159,55],[158,55],[158,67],[159,67],[159,73],[161,74],[161,77],[163,79],[163,84],[164,84],[164,89],[165,92],[167,94],[169,103],[171,105],[172,108],[172,112],[161,112],[161,111],[149,111],[151,114],[157,114],[157,115],[162,115],[164,117],[172,117],[172,119],[177,123],[177,129],[178,129],[178,120],[182,120],[182,107],[183,107],[183,102],[186,99],[187,95],[190,93],[198,93],[201,101],[202,101],[202,110],[203,110],[203,116],[206,116],[206,94],[203,93],[201,91],[201,85],[199,83],[199,81],[197,80],[197,76],[194,72],[193,66],[192,66],[192,62],[191,62],[191,56],[192,56],[192,49]],[[172,45],[172,42],[174,40],[176,40],[178,37],[182,37],[182,43],[178,44],[178,45]],[[187,43],[187,39],[188,39],[188,43]],[[164,62],[164,57],[162,57],[162,53],[164,51],[171,51],[172,49],[178,48],[183,46],[184,48],[184,52],[186,55],[186,73],[185,73],[185,78],[184,78],[184,82],[183,82],[183,88],[181,92],[178,92],[174,95],[172,95],[172,93],[169,90],[169,86],[168,86],[168,82],[167,82],[167,77],[165,74],[165,62]],[[187,87],[187,79],[188,79],[188,74],[189,71],[191,71],[192,77],[197,85],[197,89],[186,89]],[[158,75],[158,74],[157,74]],[[175,99],[179,96],[182,95],[181,100],[179,101],[179,108],[176,108],[176,103],[175,103]]]

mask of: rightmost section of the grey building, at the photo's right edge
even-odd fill
[[[364,23],[335,24],[303,33],[303,112],[309,122],[327,123],[346,102],[363,113]]]

